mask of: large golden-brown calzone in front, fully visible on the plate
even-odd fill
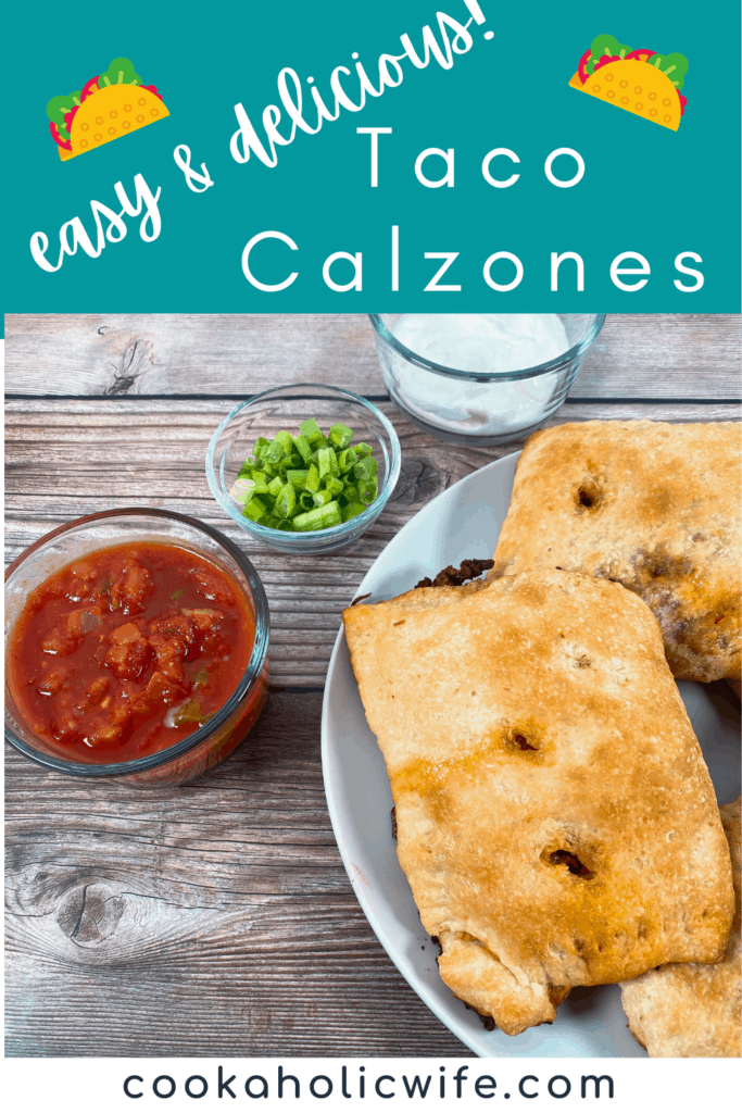
[[[553,570],[472,587],[344,621],[442,976],[516,1034],[570,986],[719,961],[733,895],[645,604]]]

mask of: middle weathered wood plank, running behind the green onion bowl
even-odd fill
[[[403,470],[378,521],[330,560],[287,556],[244,533],[211,498],[204,456],[228,402],[115,398],[11,401],[6,408],[6,552],[12,560],[62,522],[102,509],[157,506],[208,522],[241,544],[263,579],[273,618],[274,683],[321,686],[340,611],[385,545],[431,499],[521,442],[471,449],[419,432],[392,403],[382,408],[399,435]],[[553,418],[653,417],[716,421],[735,406],[570,404]]]

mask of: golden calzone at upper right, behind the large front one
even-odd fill
[[[740,676],[740,425],[584,422],[534,433],[492,577],[615,580],[660,620],[683,680]]]

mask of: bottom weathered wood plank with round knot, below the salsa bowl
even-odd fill
[[[271,695],[224,765],[157,791],[8,749],[7,1054],[468,1054],[353,895],[320,707]]]

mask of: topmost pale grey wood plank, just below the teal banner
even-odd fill
[[[573,397],[740,395],[741,318],[610,316]],[[21,395],[228,395],[277,383],[385,394],[362,314],[17,315],[6,318],[6,390]]]

